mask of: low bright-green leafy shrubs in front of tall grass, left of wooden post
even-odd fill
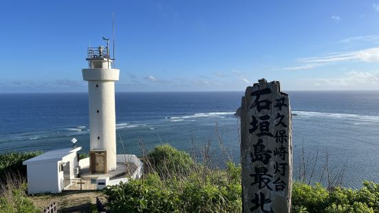
[[[162,181],[157,174],[105,189],[112,212],[241,212],[241,186]]]

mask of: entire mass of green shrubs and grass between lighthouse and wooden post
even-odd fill
[[[241,167],[232,162],[212,170],[163,144],[144,164],[143,180],[105,189],[112,212],[241,212]]]

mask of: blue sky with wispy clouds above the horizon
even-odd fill
[[[0,92],[87,91],[112,11],[116,91],[379,89],[379,1],[4,1]]]

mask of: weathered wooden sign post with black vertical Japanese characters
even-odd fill
[[[290,212],[292,123],[280,82],[259,80],[242,97],[243,212]]]

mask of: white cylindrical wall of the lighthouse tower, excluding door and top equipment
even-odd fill
[[[111,171],[116,169],[114,81],[120,70],[83,69],[82,73],[88,81],[90,150],[107,150],[107,170]]]

